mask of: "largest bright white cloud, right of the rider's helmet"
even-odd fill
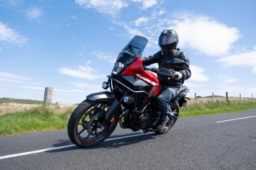
[[[205,15],[186,12],[176,14],[169,28],[177,31],[179,46],[189,47],[209,56],[229,53],[231,45],[240,35],[237,28],[228,27]]]

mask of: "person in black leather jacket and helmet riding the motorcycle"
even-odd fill
[[[160,109],[161,116],[157,122],[156,129],[163,132],[163,128],[169,121],[168,103],[177,95],[180,85],[183,84],[185,79],[191,77],[191,71],[189,69],[189,59],[185,52],[180,52],[177,48],[179,42],[176,31],[170,29],[163,31],[158,38],[158,45],[161,50],[153,56],[143,57],[143,65],[151,65],[158,63],[159,69],[168,69],[172,72],[169,77],[164,77],[161,74],[157,75],[157,79],[160,82],[161,94],[157,97],[157,107]],[[184,62],[180,65],[173,63],[173,59],[182,59]]]

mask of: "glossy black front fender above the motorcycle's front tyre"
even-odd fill
[[[108,102],[109,105],[112,105],[113,103],[117,102],[116,97],[109,91],[101,91],[98,93],[93,93],[93,94],[86,96],[86,98],[89,100],[92,100],[92,101]]]

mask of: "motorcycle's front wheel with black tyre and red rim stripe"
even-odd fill
[[[105,123],[104,114],[110,105],[106,102],[84,100],[70,116],[67,132],[70,140],[80,147],[91,147],[102,143],[116,128],[118,113]]]

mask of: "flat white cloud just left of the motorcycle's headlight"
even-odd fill
[[[105,77],[102,74],[96,74],[97,71],[89,66],[81,66],[79,65],[76,68],[60,68],[58,69],[60,74],[64,74],[71,77],[87,79],[87,80],[94,80],[100,77]]]

